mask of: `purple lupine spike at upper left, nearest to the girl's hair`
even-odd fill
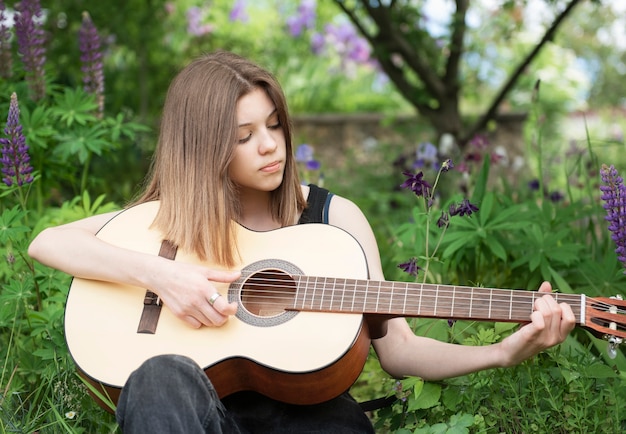
[[[83,12],[83,23],[78,31],[80,61],[85,92],[95,95],[98,114],[104,113],[104,72],[101,39],[88,12]]]

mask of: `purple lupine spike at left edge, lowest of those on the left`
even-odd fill
[[[2,146],[0,164],[2,164],[2,182],[11,187],[13,184],[22,186],[33,182],[33,167],[30,165],[26,137],[20,125],[20,108],[15,92],[11,94],[7,126],[4,129],[6,138],[0,138]]]

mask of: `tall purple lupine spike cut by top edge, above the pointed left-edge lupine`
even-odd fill
[[[44,64],[46,63],[43,14],[39,0],[22,0],[15,4],[15,34],[17,52],[22,58],[26,81],[35,101],[46,93]]]

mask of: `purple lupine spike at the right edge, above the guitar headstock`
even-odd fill
[[[624,179],[614,166],[602,165],[600,176],[605,185],[602,191],[603,208],[606,210],[606,221],[609,222],[611,239],[615,242],[617,259],[626,267],[626,187]],[[626,274],[626,270],[624,271]]]

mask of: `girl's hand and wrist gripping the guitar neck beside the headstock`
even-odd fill
[[[539,292],[546,295],[534,303],[530,322],[504,339],[500,346],[508,360],[506,366],[514,366],[539,352],[565,340],[576,325],[576,317],[566,303],[557,303],[549,294],[552,286],[543,282]]]

